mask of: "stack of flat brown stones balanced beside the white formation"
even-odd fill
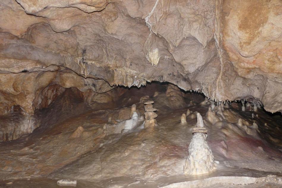
[[[155,111],[157,111],[156,108],[153,108],[153,103],[154,101],[147,101],[144,102],[144,108],[145,108],[145,124],[144,127],[149,127],[149,126],[154,126],[157,121],[155,120],[155,118],[158,116]]]

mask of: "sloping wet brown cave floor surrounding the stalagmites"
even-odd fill
[[[0,143],[0,186],[57,187],[58,179],[77,179],[77,187],[163,187],[219,176],[282,177],[281,117],[270,117],[261,109],[241,112],[231,106],[222,112],[214,110],[220,121],[212,124],[206,115],[208,103],[172,109],[164,94],[150,99],[158,109],[155,127],[144,129],[140,122],[129,132],[107,134],[104,127],[111,124],[109,116],[130,113],[130,105],[113,109],[101,104],[100,109],[104,110],[82,111],[44,131],[35,129],[18,140]],[[140,114],[144,114],[143,103],[137,102],[136,106]],[[183,175],[196,124],[192,115],[187,116],[187,124],[180,123],[187,109],[203,116],[207,142],[219,163],[212,173]],[[258,117],[252,118],[252,113]],[[237,125],[239,118],[244,120],[243,127]],[[251,126],[253,121],[258,128]],[[75,133],[78,127],[83,127],[79,134]],[[13,184],[6,184],[8,182]],[[211,187],[275,186],[281,184],[261,181]]]

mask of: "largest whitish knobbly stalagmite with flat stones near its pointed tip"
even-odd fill
[[[200,113],[197,113],[197,127],[194,130],[204,128]],[[193,133],[194,133],[193,130]],[[207,134],[195,132],[191,139],[187,157],[184,165],[184,173],[187,175],[198,175],[208,173],[215,169],[214,157],[206,141]]]

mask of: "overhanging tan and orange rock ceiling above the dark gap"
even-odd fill
[[[53,84],[103,93],[153,80],[282,111],[279,0],[0,4],[2,114],[20,105],[32,115]]]

